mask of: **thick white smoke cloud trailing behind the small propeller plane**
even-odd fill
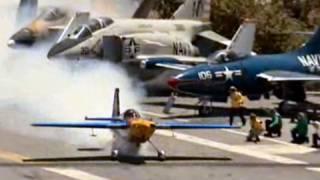
[[[9,49],[6,42],[15,28],[17,4],[0,3],[0,108],[15,105],[41,119],[26,118],[21,122],[21,119],[9,118],[0,122],[0,129],[68,143],[92,144],[90,130],[35,129],[30,123],[82,120],[86,115],[110,116],[114,88],[120,88],[122,110],[138,106],[140,91],[131,87],[132,82],[122,68],[106,62],[49,61],[46,58],[49,47],[45,43],[31,49]],[[111,133],[106,132],[109,131],[99,131],[100,138],[96,141],[110,140]]]

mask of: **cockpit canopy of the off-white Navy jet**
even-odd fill
[[[112,23],[113,20],[106,17],[90,19],[90,21],[87,24],[83,24],[76,28],[72,35],[74,38],[87,38],[90,37],[92,33],[100,29],[103,29]]]

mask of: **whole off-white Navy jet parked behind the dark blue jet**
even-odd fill
[[[136,60],[140,54],[199,55],[193,44],[206,38],[222,44],[230,41],[213,31],[208,23],[211,0],[186,0],[172,19],[108,19],[105,27],[96,23],[79,26],[55,44],[48,57],[101,57],[114,62]]]

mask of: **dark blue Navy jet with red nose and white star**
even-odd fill
[[[230,86],[236,86],[250,100],[269,97],[272,92],[279,99],[302,102],[306,99],[304,84],[320,80],[320,29],[303,47],[288,53],[249,54],[191,68],[175,62],[163,59],[159,66],[185,69],[168,81],[180,93],[226,101]]]

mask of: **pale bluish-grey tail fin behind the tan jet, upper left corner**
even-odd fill
[[[25,25],[36,17],[38,0],[20,0],[17,11],[17,25]]]

